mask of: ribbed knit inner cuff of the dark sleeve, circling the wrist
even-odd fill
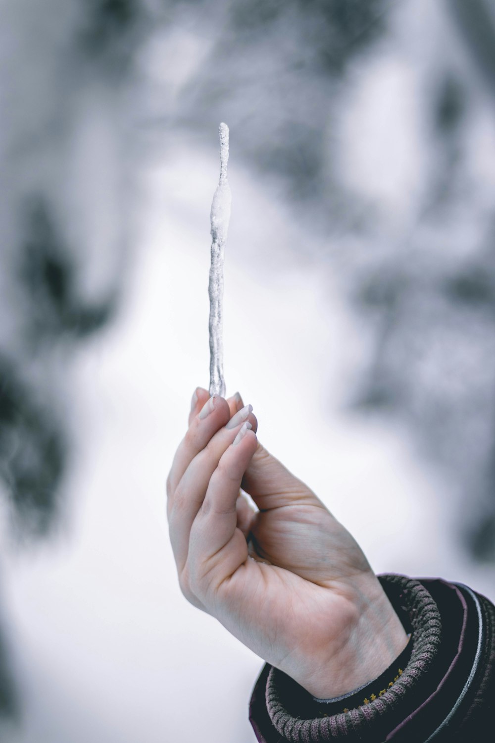
[[[278,741],[383,740],[430,693],[427,687],[438,681],[429,673],[442,635],[435,601],[417,580],[398,575],[383,576],[380,580],[406,632],[413,632],[410,659],[399,678],[387,685],[381,695],[368,698],[368,703],[329,715],[324,704],[315,701],[292,678],[274,667],[269,668],[266,712],[278,733]]]

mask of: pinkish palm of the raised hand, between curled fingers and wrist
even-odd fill
[[[372,574],[350,533],[309,488],[286,474],[290,486],[280,471],[277,478],[278,485],[285,480],[285,490],[272,489],[265,479],[265,492],[260,493],[256,473],[251,478],[246,473],[246,489],[260,508],[249,523],[254,559],[243,561],[223,585],[220,620],[258,655],[290,674],[292,663],[332,655],[332,640],[355,620],[353,580]],[[237,545],[241,562],[240,539]]]

